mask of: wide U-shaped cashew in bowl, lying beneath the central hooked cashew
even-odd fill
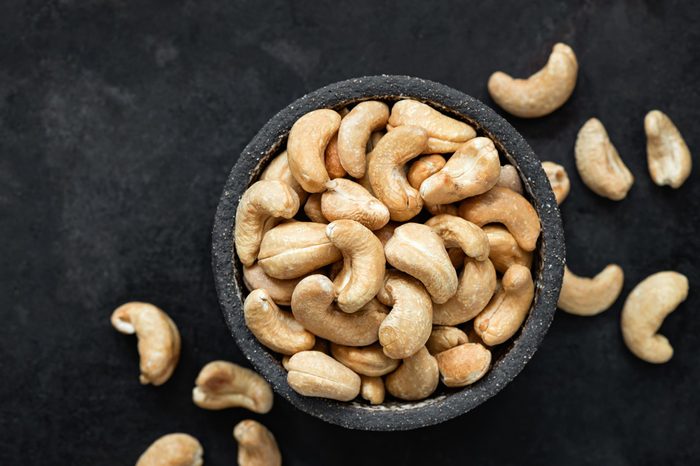
[[[379,325],[387,310],[372,300],[359,311],[346,314],[333,300],[335,287],[325,275],[310,275],[299,282],[292,295],[292,313],[316,336],[347,346],[371,345],[379,338]]]

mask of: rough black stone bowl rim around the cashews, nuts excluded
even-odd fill
[[[480,135],[494,141],[502,160],[513,164],[520,172],[526,196],[542,222],[533,264],[536,287],[532,309],[519,333],[497,347],[491,370],[468,387],[441,386],[426,400],[388,401],[381,406],[299,395],[287,384],[279,355],[258,343],[246,327],[243,299],[247,291],[233,248],[236,207],[246,188],[280,152],[292,124],[305,113],[318,108],[339,109],[362,100],[390,102],[406,97],[473,125]],[[212,235],[212,261],[224,319],[253,367],[278,394],[300,410],[333,424],[363,430],[409,430],[438,424],[466,413],[503,389],[525,367],[547,333],[556,310],[565,258],[564,234],[554,194],[540,161],[523,137],[480,101],[442,84],[408,76],[369,76],[331,84],[305,95],[272,117],[246,146],[231,170]]]

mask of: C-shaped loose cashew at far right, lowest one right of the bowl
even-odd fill
[[[678,272],[658,272],[642,280],[622,308],[622,337],[640,359],[663,364],[673,357],[668,339],[657,333],[664,319],[688,297],[688,279]]]

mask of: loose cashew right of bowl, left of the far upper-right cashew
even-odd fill
[[[574,150],[576,169],[591,191],[613,201],[627,197],[634,176],[610,142],[600,120],[591,118],[581,127]]]

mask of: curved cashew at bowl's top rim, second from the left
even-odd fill
[[[389,106],[370,100],[357,104],[340,122],[338,156],[353,178],[365,175],[367,143],[372,132],[384,128],[388,119]]]

